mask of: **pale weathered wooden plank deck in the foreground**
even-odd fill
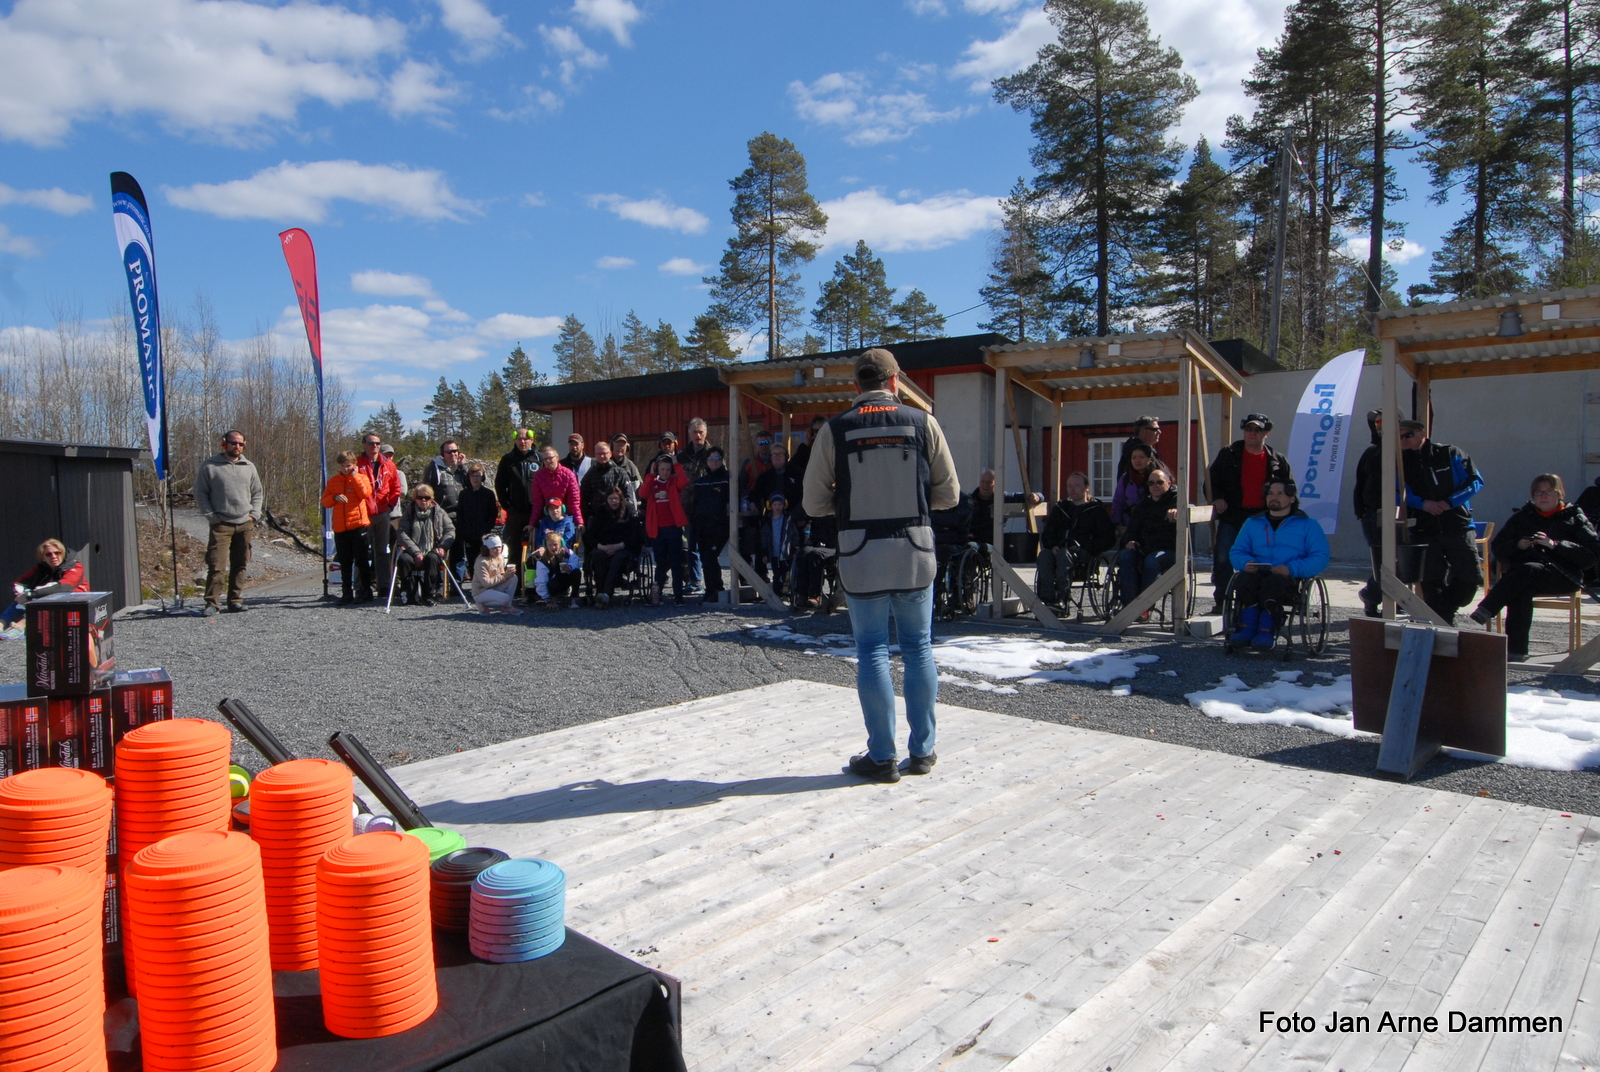
[[[1589,816],[942,704],[934,773],[872,786],[862,739],[787,682],[394,774],[678,976],[698,1072],[1600,1067]]]

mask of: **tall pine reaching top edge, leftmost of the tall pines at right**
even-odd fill
[[[995,80],[995,98],[1032,115],[1034,187],[1053,206],[1045,237],[1062,291],[1091,288],[1094,334],[1107,334],[1178,168],[1168,133],[1198,90],[1138,0],[1046,0],[1045,13],[1056,40]]]

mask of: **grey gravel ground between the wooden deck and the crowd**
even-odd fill
[[[485,618],[459,605],[338,608],[323,603],[320,578],[291,578],[251,592],[245,614],[163,616],[131,608],[117,619],[117,662],[165,666],[179,715],[216,718],[216,702],[237,696],[299,755],[330,755],[334,730],[354,731],[386,765],[496,744],[618,714],[702,696],[808,678],[854,683],[854,666],[806,656],[797,645],[762,642],[746,626],[781,621],[765,608],[616,608]],[[1334,613],[1330,651],[1293,669],[1347,672],[1344,613]],[[848,632],[848,618],[787,619],[800,632]],[[1536,624],[1536,629],[1558,629]],[[965,622],[936,635],[1011,634],[1014,627]],[[1085,637],[1088,638],[1088,637]],[[1104,643],[1104,642],[1099,642]],[[1374,776],[1376,739],[1333,738],[1294,726],[1245,726],[1210,718],[1186,693],[1238,674],[1250,685],[1283,669],[1219,645],[1130,637],[1117,646],[1160,656],[1133,682],[1133,696],[1109,686],[1022,685],[994,694],[946,685],[942,701],[1062,725],[1168,741],[1355,776]],[[19,680],[22,645],[0,645],[0,680]],[[1165,677],[1160,670],[1176,670]],[[1512,683],[1579,688],[1600,683],[1514,672]],[[840,758],[861,741],[840,741]],[[242,742],[237,760],[259,768]],[[750,776],[762,757],[750,757]],[[1600,771],[1534,771],[1437,757],[1414,784],[1469,795],[1600,814]]]

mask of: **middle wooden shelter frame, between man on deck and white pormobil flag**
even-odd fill
[[[1202,395],[1219,395],[1222,403],[1222,434],[1227,435],[1234,422],[1234,398],[1245,392],[1245,384],[1234,366],[1219,355],[1211,344],[1194,331],[1157,331],[1149,334],[1112,334],[1080,339],[1058,339],[1054,342],[1018,342],[1013,346],[984,347],[984,360],[995,370],[995,494],[1003,498],[1005,488],[1005,427],[1010,419],[1013,435],[1021,443],[1016,430],[1016,403],[1011,398],[1011,384],[1016,382],[1054,406],[1054,437],[1051,440],[1051,467],[1054,480],[1061,480],[1061,424],[1062,408],[1074,402],[1101,402],[1107,398],[1163,398],[1176,395],[1178,410],[1178,562],[1162,574],[1149,589],[1139,594],[1133,603],[1125,606],[1110,622],[1107,632],[1123,632],[1139,619],[1139,614],[1155,606],[1163,595],[1173,594],[1174,634],[1184,635],[1184,616],[1187,610],[1187,578],[1189,578],[1189,528],[1195,523],[1211,520],[1210,506],[1194,506],[1189,501],[1190,474],[1194,458],[1189,446],[1190,422],[1200,426],[1200,453],[1210,456],[1210,440],[1206,437],[1205,408],[1200,405]],[[1018,462],[1027,462],[1018,450]],[[1203,472],[1202,459],[1202,472]],[[1048,488],[1058,498],[1059,488]],[[1046,496],[1048,498],[1048,496]],[[992,614],[1002,616],[1005,606],[1005,587],[1016,592],[1018,598],[1045,626],[1059,627],[1050,608],[1045,606],[1029,584],[1006,565],[1005,547],[1005,509],[995,507],[994,528],[994,563],[997,582],[994,586]],[[1003,584],[1002,584],[1003,581]]]

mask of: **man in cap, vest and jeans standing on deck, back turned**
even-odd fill
[[[850,773],[898,782],[890,618],[906,664],[907,774],[933,770],[931,510],[960,498],[955,459],[931,414],[899,400],[899,363],[883,349],[856,358],[856,403],[827,422],[805,470],[805,512],[838,518],[838,581],[856,634],[856,693],[867,750]]]

